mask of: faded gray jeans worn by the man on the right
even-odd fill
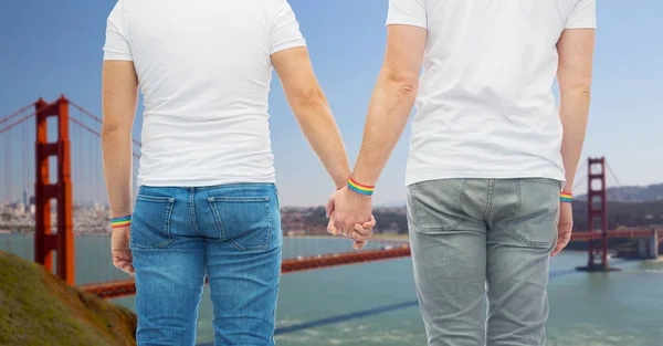
[[[545,344],[560,189],[559,181],[539,178],[408,187],[414,280],[430,346]]]

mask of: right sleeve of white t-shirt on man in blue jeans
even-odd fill
[[[295,46],[306,46],[295,12],[287,0],[277,0],[270,40],[272,45],[270,54]]]

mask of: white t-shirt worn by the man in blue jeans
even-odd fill
[[[274,182],[270,56],[305,44],[286,0],[119,0],[104,60],[144,95],[138,184]]]

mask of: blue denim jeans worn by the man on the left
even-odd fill
[[[194,344],[206,274],[214,344],[274,345],[282,243],[273,184],[140,187],[129,242],[138,346]]]

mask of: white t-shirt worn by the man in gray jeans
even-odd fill
[[[596,0],[390,0],[387,24],[428,30],[406,184],[565,180],[556,44],[596,27]]]

